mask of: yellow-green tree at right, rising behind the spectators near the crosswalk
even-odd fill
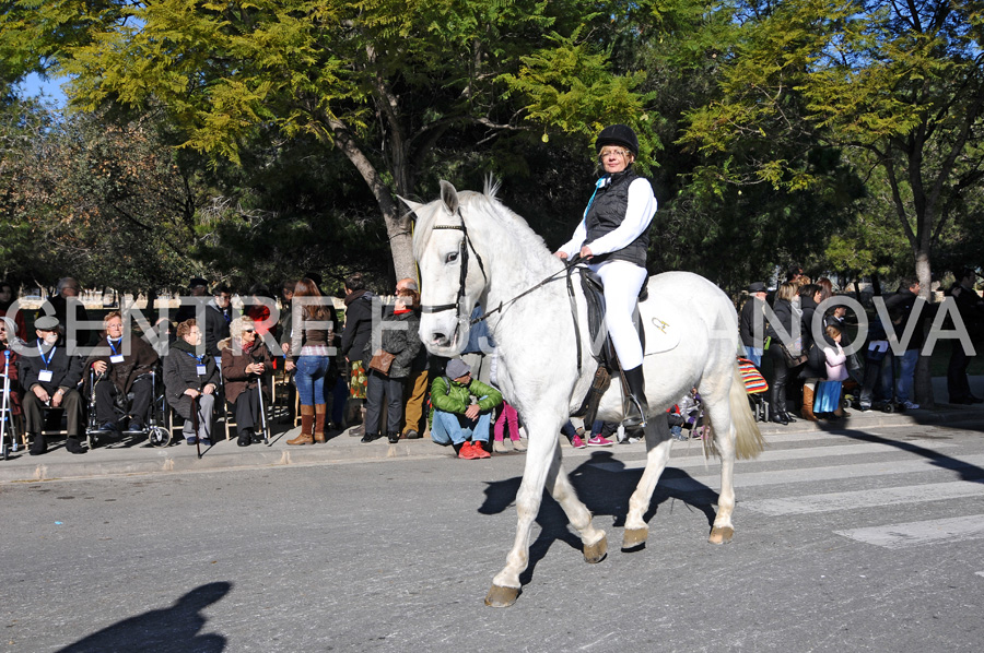
[[[883,174],[928,293],[933,250],[984,177],[984,4],[787,0],[738,7],[745,13],[736,15],[747,22],[723,63],[723,96],[691,114],[686,139],[707,153],[801,139],[851,150],[862,177],[876,168]],[[762,152],[740,169],[719,166],[714,174],[776,189],[815,182],[796,159]],[[916,396],[928,404],[926,369]]]

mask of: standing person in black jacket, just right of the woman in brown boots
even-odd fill
[[[365,418],[365,391],[368,378],[365,375],[363,352],[373,334],[373,297],[365,287],[362,275],[355,273],[345,280],[345,328],[341,337],[341,354],[349,365],[349,424],[359,426],[349,429],[355,438],[365,436],[362,420]],[[382,318],[382,316],[379,316]]]

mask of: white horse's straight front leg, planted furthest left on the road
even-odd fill
[[[532,422],[528,425],[530,438],[529,449],[526,452],[526,468],[523,472],[519,492],[516,495],[518,513],[516,539],[506,556],[506,566],[492,579],[492,589],[485,596],[485,605],[508,607],[519,596],[519,574],[526,571],[529,565],[529,531],[540,512],[554,449],[559,447],[557,441],[559,426]]]

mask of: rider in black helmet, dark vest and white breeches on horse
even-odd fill
[[[648,278],[646,231],[656,214],[653,187],[632,165],[639,156],[639,139],[625,124],[606,127],[595,141],[604,174],[574,237],[555,256],[581,256],[605,285],[605,324],[628,384],[629,412],[622,424],[637,427],[646,419],[643,348],[632,322],[636,298]]]

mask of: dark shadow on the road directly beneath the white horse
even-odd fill
[[[581,463],[572,472],[569,473],[571,484],[577,491],[577,497],[591,511],[595,519],[595,525],[622,527],[625,525],[625,518],[629,512],[629,498],[635,491],[635,486],[642,477],[642,467],[629,468],[622,461],[616,459],[610,451],[595,451],[590,459]],[[687,479],[687,486],[696,489],[688,489],[686,491],[672,489],[672,485],[667,480]],[[522,477],[515,476],[505,480],[496,480],[488,483],[485,488],[485,500],[479,507],[480,514],[499,514],[507,510],[516,501],[516,495],[519,491]],[[680,484],[684,485],[684,484]],[[706,485],[693,479],[689,474],[675,467],[667,467],[659,477],[656,490],[649,501],[649,508],[646,510],[643,519],[646,523],[656,514],[659,506],[667,501],[680,500],[689,509],[696,509],[704,513],[707,518],[708,527],[714,524],[714,504],[717,502],[717,491]],[[605,522],[605,517],[612,519],[611,523]],[[605,523],[602,523],[605,522]],[[537,514],[536,523],[540,526],[540,533],[536,541],[529,547],[529,565],[526,571],[519,577],[519,582],[524,585],[532,580],[534,570],[554,542],[563,542],[575,550],[582,550],[581,538],[571,530],[567,515],[564,514],[560,504],[553,500],[548,491],[543,492],[543,501],[540,503],[540,512]],[[618,541],[613,542],[612,533],[608,533],[609,547],[618,546]]]

